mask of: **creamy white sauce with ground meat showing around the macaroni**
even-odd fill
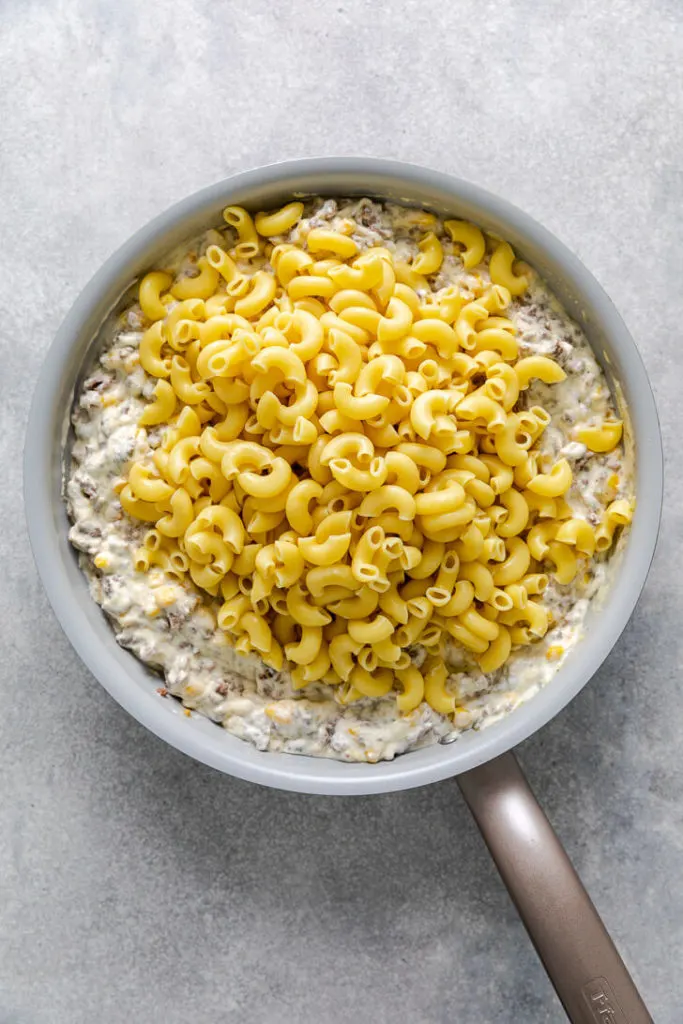
[[[309,226],[335,226],[338,217],[352,217],[357,224],[353,238],[361,247],[384,245],[405,260],[418,253],[423,230],[402,207],[370,200],[345,206],[318,200],[309,208]],[[291,240],[297,240],[300,227],[293,229]],[[229,237],[229,229],[224,233]],[[186,250],[177,252],[166,265],[189,269],[198,253],[222,238],[210,231],[189,257]],[[465,270],[445,239],[443,246],[446,255],[431,280],[432,290],[455,283],[471,289],[476,278]],[[476,272],[487,280],[484,267]],[[566,380],[552,387],[533,382],[524,393],[524,404],[540,404],[550,413],[541,450],[569,461],[573,484],[567,500],[577,514],[597,523],[606,502],[629,497],[632,485],[631,456],[625,456],[623,446],[594,455],[571,439],[577,423],[613,413],[605,378],[580,328],[538,278],[509,315],[518,329],[520,355],[550,355],[566,371]],[[216,627],[217,602],[158,568],[137,572],[133,552],[146,526],[122,512],[114,485],[132,459],[147,455],[160,441],[159,430],[145,432],[137,426],[155,385],[136,360],[142,324],[133,306],[116,328],[103,332],[101,354],[74,408],[66,498],[73,520],[70,539],[82,553],[93,599],[109,616],[119,643],[159,672],[162,696],[178,697],[189,714],[208,716],[259,750],[374,762],[429,743],[451,742],[466,729],[496,721],[549,682],[580,640],[589,602],[608,586],[609,562],[604,557],[595,559],[569,586],[551,580],[542,600],[556,625],[544,640],[513,651],[499,672],[484,676],[462,648],[449,647],[449,686],[459,709],[453,721],[424,702],[401,717],[393,695],[344,707],[334,687],[316,684],[294,691],[287,673],[273,672],[255,656],[236,654]],[[612,474],[620,483],[608,492]],[[549,658],[551,647],[563,653]],[[416,662],[423,653],[415,649]]]

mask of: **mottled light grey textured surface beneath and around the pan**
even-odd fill
[[[20,515],[55,326],[175,200],[286,157],[472,178],[596,273],[651,375],[658,555],[616,650],[521,759],[657,1022],[683,1019],[679,0],[0,0],[0,1022],[560,1021],[452,782],[222,777],[79,664]]]

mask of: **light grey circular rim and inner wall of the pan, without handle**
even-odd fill
[[[611,589],[600,615],[600,629],[582,639],[544,688],[499,722],[480,732],[464,733],[452,743],[422,748],[378,764],[260,752],[208,719],[187,719],[169,709],[175,701],[160,700],[155,693],[157,677],[151,678],[141,663],[116,643],[109,623],[89,596],[73,553],[67,553],[66,515],[55,480],[59,472],[55,451],[62,451],[55,432],[62,430],[63,396],[69,393],[70,380],[72,385],[75,380],[70,366],[75,347],[87,347],[94,323],[101,323],[102,303],[124,290],[145,253],[162,248],[173,232],[177,237],[183,224],[205,215],[208,224],[212,211],[228,201],[239,201],[234,197],[243,193],[267,196],[281,190],[291,195],[307,190],[297,188],[297,182],[316,181],[317,187],[309,190],[331,195],[330,189],[335,188],[337,195],[343,195],[344,181],[357,179],[366,180],[368,190],[375,195],[388,189],[394,198],[402,190],[410,199],[420,194],[427,206],[434,205],[433,197],[440,195],[452,201],[453,208],[479,209],[484,225],[486,221],[504,223],[511,236],[525,240],[527,251],[536,248],[557,264],[595,316],[607,351],[618,353],[620,381],[633,418],[637,453],[636,514],[618,568],[620,586]],[[638,453],[645,451],[647,458],[638,458]],[[77,653],[111,695],[156,735],[220,771],[276,788],[342,796],[410,788],[457,775],[515,746],[558,714],[604,662],[633,613],[654,555],[664,482],[656,408],[636,344],[602,287],[570,250],[527,214],[476,184],[413,164],[343,157],[286,161],[223,179],[176,203],[115,252],[83,289],[45,356],[29,415],[24,469],[29,537],[48,599]],[[68,542],[66,545],[68,549]],[[82,578],[82,587],[74,570]]]

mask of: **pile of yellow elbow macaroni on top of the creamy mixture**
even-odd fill
[[[549,574],[568,584],[631,518],[609,506],[593,528],[563,496],[565,459],[538,451],[550,421],[519,409],[533,379],[564,379],[519,358],[505,310],[527,287],[506,242],[459,220],[427,230],[412,263],[360,251],[342,230],[300,225],[301,203],[224,218],[229,252],[208,246],[196,276],[148,273],[139,348],[158,378],[143,428],[165,425],[132,464],[123,509],[154,524],[136,552],[220,598],[218,626],[241,653],[322,681],[342,702],[396,690],[450,714],[446,641],[482,672],[549,628]],[[432,291],[447,232],[490,284]],[[518,269],[518,268],[517,268]],[[622,424],[580,437],[609,451]],[[427,656],[418,668],[410,648]]]

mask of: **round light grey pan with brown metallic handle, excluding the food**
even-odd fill
[[[118,646],[89,596],[68,541],[61,497],[74,390],[98,329],[121,297],[166,252],[218,223],[227,204],[270,209],[308,195],[369,195],[472,220],[509,240],[585,331],[628,411],[636,452],[636,512],[613,583],[552,681],[486,729],[380,764],[259,752],[201,716],[187,719],[175,701],[159,700],[158,677]],[[512,750],[579,693],[624,630],[654,553],[661,488],[661,439],[645,370],[618,313],[577,257],[521,210],[475,184],[409,164],[355,158],[293,161],[238,174],[141,228],[97,271],[59,329],[37,382],[25,450],[29,534],[48,598],[79,655],[119,703],[197,760],[282,790],[354,796],[457,777],[567,1016],[585,1024],[651,1018]]]

